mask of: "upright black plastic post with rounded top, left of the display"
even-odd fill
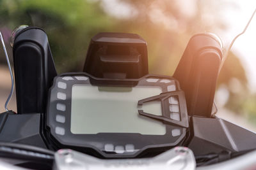
[[[42,29],[28,27],[13,44],[17,112],[45,113],[47,92],[57,75],[47,35]]]

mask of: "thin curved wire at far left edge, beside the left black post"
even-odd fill
[[[2,36],[2,33],[0,31],[0,38],[1,38],[1,42],[2,42],[2,45],[3,45],[3,49],[4,49],[4,54],[5,54],[5,57],[6,57],[6,61],[7,61],[7,64],[8,64],[8,68],[9,68],[9,71],[10,71],[10,75],[11,75],[11,80],[12,80],[12,87],[11,87],[11,91],[10,91],[10,94],[4,104],[4,108],[6,111],[9,111],[7,106],[8,106],[8,103],[10,102],[10,99],[12,98],[12,94],[13,94],[13,88],[14,88],[14,78],[13,78],[13,73],[12,73],[12,67],[11,67],[11,64],[10,64],[10,60],[9,60],[9,57],[8,57],[8,53],[6,51],[6,48],[5,48],[5,45],[4,45],[4,39],[3,39],[3,36]]]

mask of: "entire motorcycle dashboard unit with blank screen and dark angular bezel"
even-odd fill
[[[136,157],[184,139],[184,92],[168,76],[134,80],[65,73],[54,78],[46,115],[56,148],[80,147],[103,157]]]

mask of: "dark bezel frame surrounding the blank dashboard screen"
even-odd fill
[[[147,81],[149,79],[150,81]],[[65,83],[65,88],[58,86],[59,82]],[[138,133],[72,134],[70,131],[72,85],[78,84],[111,87],[154,86],[161,87],[163,93],[170,92],[170,90],[168,91],[168,86],[175,86],[175,91],[173,92],[175,96],[179,97],[180,121],[188,124],[188,114],[186,110],[184,92],[180,90],[179,82],[170,76],[147,74],[139,79],[114,80],[108,78],[95,78],[87,73],[65,73],[54,78],[53,85],[49,90],[46,113],[46,127],[48,132],[56,141],[58,141],[58,143],[61,143],[62,146],[71,148],[79,147],[84,148],[85,150],[86,148],[90,148],[106,158],[136,157],[136,155],[147,150],[148,148],[176,146],[180,143],[180,141],[182,141],[182,139],[184,139],[186,135],[186,128],[180,127],[178,124],[175,125],[165,123],[166,134],[164,135],[142,135]],[[173,90],[173,87],[171,89]],[[65,99],[58,95],[60,93],[65,94]],[[65,104],[65,111],[61,111],[60,108],[57,110],[56,105],[58,103]],[[57,121],[57,115],[65,117],[65,121],[63,121],[63,119],[62,122]],[[180,135],[172,136],[173,129],[179,129],[178,131],[180,131]],[[110,146],[113,145],[114,150],[106,151],[106,145],[109,144]],[[133,146],[133,150],[127,150],[127,146]],[[120,150],[116,150],[116,147],[121,148],[121,152],[118,153]],[[122,148],[124,149],[124,152],[122,152]]]

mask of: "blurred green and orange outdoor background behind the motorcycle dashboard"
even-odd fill
[[[231,0],[0,0],[0,30],[12,60],[10,34],[19,25],[47,32],[58,73],[82,71],[86,50],[98,32],[132,32],[148,43],[153,74],[172,76],[196,33],[214,32],[224,52],[243,31],[256,1]],[[256,16],[239,37],[218,78],[218,117],[256,132]],[[10,73],[0,50],[0,111],[10,92]],[[9,106],[15,108],[13,96]]]

